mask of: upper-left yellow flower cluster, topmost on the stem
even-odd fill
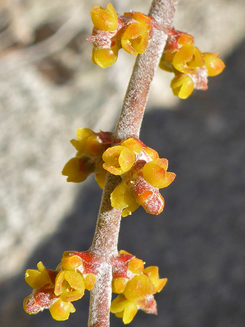
[[[112,4],[104,10],[94,6],[91,10],[93,22],[92,36],[87,40],[93,43],[92,61],[102,68],[113,65],[118,51],[123,48],[136,56],[145,51],[151,37],[155,20],[140,12],[125,12],[118,16]]]

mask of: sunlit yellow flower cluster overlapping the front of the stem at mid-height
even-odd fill
[[[104,169],[122,178],[110,198],[113,208],[124,209],[123,217],[131,215],[139,205],[153,215],[162,212],[164,199],[159,188],[175,178],[174,173],[167,172],[167,159],[160,159],[155,150],[133,137],[108,148],[102,159]]]

